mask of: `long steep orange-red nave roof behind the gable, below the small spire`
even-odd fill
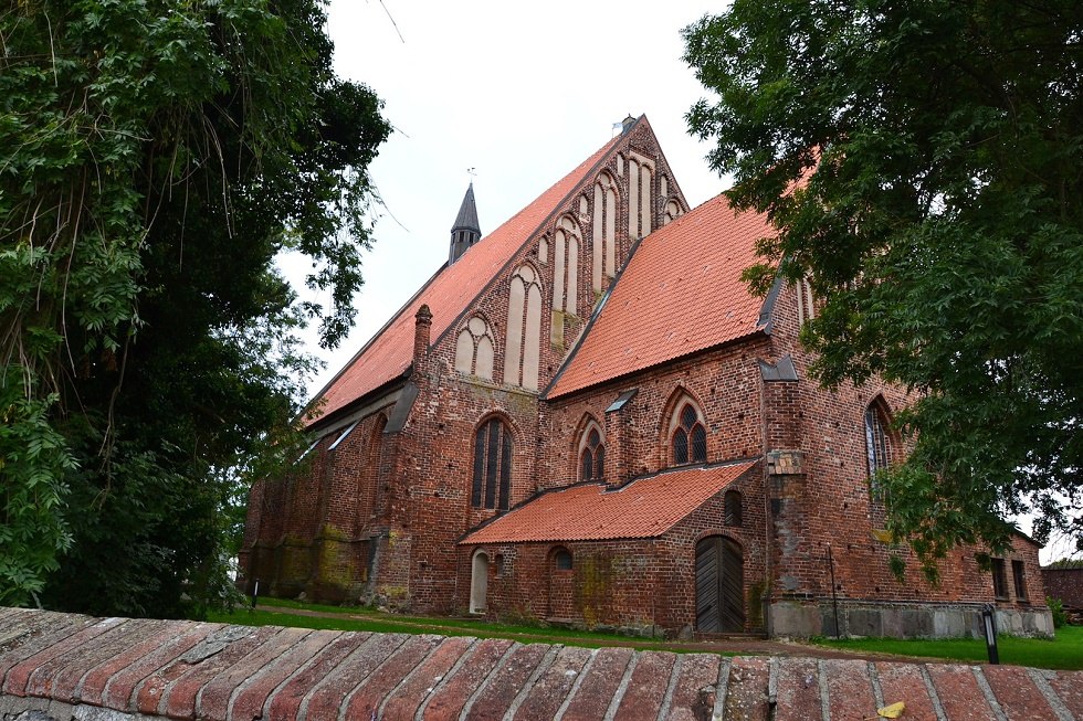
[[[620,140],[621,136],[617,136],[607,142],[534,202],[483,237],[456,263],[441,268],[317,394],[316,401],[326,401],[317,418],[401,375],[413,361],[418,308],[428,304],[432,311],[432,339],[435,341]]]

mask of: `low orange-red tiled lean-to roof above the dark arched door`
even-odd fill
[[[555,490],[513,509],[460,543],[655,538],[754,464],[671,470],[610,491],[603,484]]]

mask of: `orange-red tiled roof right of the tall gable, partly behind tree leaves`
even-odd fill
[[[547,397],[557,397],[759,330],[763,299],[742,272],[766,215],[735,215],[722,195],[643,238]]]

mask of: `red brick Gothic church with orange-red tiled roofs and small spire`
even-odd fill
[[[905,402],[807,377],[806,284],[749,294],[772,232],[690,209],[645,117],[444,264],[314,400],[251,491],[262,593],[644,634],[1049,634],[1038,548],[924,582],[870,476]],[[889,555],[907,562],[889,571]]]

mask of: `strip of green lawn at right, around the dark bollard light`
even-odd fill
[[[895,654],[944,658],[964,662],[985,664],[989,660],[984,639],[948,638],[943,640],[897,638],[818,638],[820,646],[841,650]],[[1064,626],[1056,629],[1056,638],[1016,638],[1001,636],[997,640],[1001,664],[1083,670],[1083,626]]]

